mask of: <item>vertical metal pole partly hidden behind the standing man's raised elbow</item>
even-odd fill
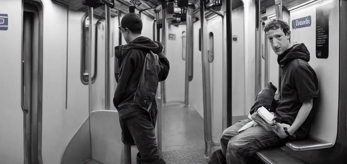
[[[164,46],[164,55],[166,55],[166,1],[163,1],[161,3],[161,12],[162,12],[162,23],[163,23],[163,28],[161,29],[161,44]],[[160,82],[160,88],[161,88],[161,98],[162,98],[162,103],[165,106],[166,105],[166,92],[165,92],[165,81]]]

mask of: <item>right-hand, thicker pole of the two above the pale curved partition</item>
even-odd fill
[[[105,5],[105,110],[110,110],[110,18],[111,8]]]

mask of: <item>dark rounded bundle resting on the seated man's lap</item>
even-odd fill
[[[266,109],[272,108],[271,104],[273,103],[273,101],[276,101],[274,100],[276,91],[276,86],[272,85],[271,82],[267,86],[265,86],[261,93],[258,94],[255,98],[254,105],[251,108],[251,111],[249,111],[249,113],[252,115],[255,109],[258,109],[259,107],[264,107]],[[270,109],[270,112],[271,111],[274,111],[274,109]]]

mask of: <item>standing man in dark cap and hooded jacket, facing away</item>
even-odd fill
[[[155,94],[169,74],[169,61],[159,42],[141,35],[142,20],[134,11],[122,18],[119,30],[127,44],[115,47],[120,72],[113,104],[119,112],[122,142],[137,146],[137,163],[164,164],[154,135]]]

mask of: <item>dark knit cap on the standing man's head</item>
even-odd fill
[[[129,30],[142,30],[142,20],[134,12],[129,12],[124,15],[120,25],[122,28],[128,28]]]

